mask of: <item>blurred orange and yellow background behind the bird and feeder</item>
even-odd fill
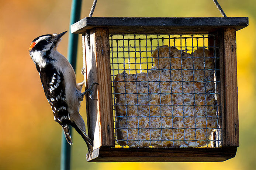
[[[83,0],[81,18],[93,0]],[[249,17],[237,36],[240,147],[236,157],[218,163],[88,163],[86,145],[73,133],[74,170],[254,170],[255,126],[255,0],[219,0],[228,17]],[[51,170],[60,167],[61,127],[53,121],[34,63],[31,41],[47,33],[69,30],[70,0],[1,0],[1,166],[3,170]],[[212,0],[98,0],[94,17],[221,17]],[[58,50],[66,56],[68,36]],[[82,81],[79,36],[77,82]],[[84,102],[81,115],[86,117]]]

